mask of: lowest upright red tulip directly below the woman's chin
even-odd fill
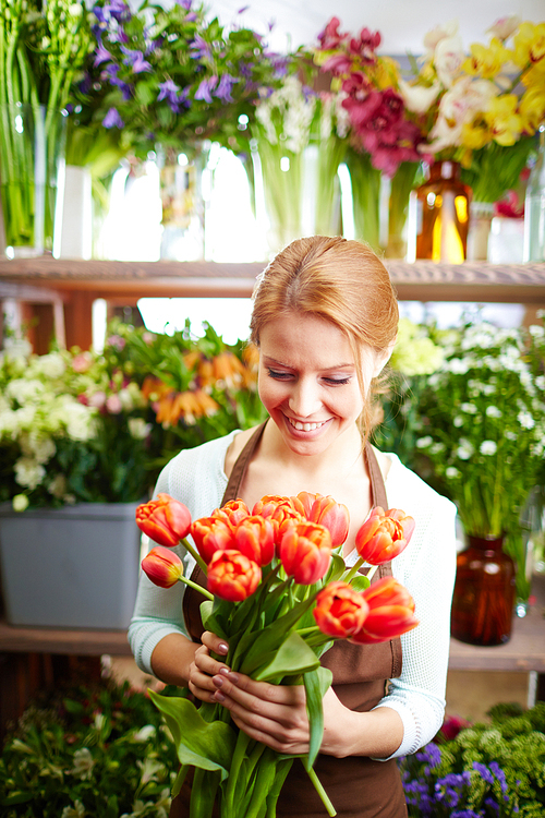
[[[298,522],[286,531],[278,555],[289,577],[312,585],[326,574],[331,558],[331,534],[316,522]]]

